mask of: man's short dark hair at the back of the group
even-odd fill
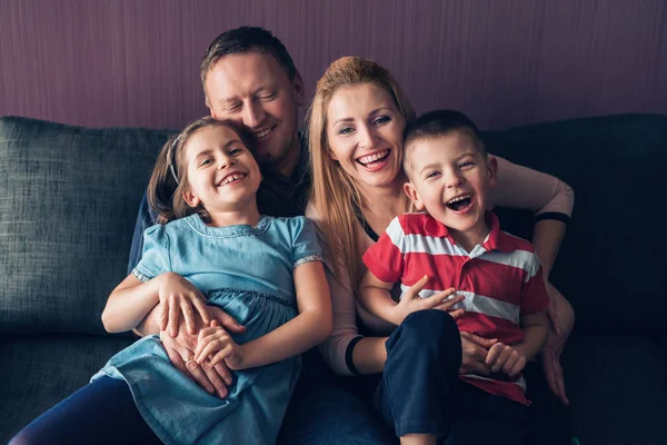
[[[222,32],[209,44],[201,60],[201,83],[206,82],[209,70],[222,57],[253,51],[273,56],[289,80],[295,79],[297,67],[285,44],[271,31],[259,27],[240,27]]]

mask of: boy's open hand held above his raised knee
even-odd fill
[[[438,294],[434,294],[428,298],[421,298],[419,291],[424,289],[428,283],[428,276],[424,276],[419,281],[415,283],[412,287],[404,293],[400,301],[392,309],[392,320],[396,325],[400,325],[402,320],[410,314],[417,310],[426,309],[439,309],[446,310],[451,315],[454,319],[457,319],[464,315],[464,309],[451,310],[451,307],[459,301],[464,300],[462,295],[457,295],[449,298],[455,291],[455,288],[442,290]]]

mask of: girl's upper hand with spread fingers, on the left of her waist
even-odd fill
[[[169,335],[176,337],[178,335],[179,318],[182,314],[188,333],[196,334],[195,310],[197,310],[205,325],[211,323],[206,306],[206,297],[193,284],[170,271],[160,275],[157,279],[160,280],[158,296],[162,308],[160,315],[161,330],[169,328]]]

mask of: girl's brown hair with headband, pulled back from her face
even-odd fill
[[[203,206],[199,205],[192,208],[183,199],[183,191],[188,189],[185,147],[190,137],[198,130],[218,126],[232,129],[255,156],[255,141],[252,138],[229,121],[205,117],[187,126],[179,135],[173,136],[165,144],[160,155],[158,155],[158,160],[148,184],[148,204],[158,214],[158,222],[167,224],[195,212],[199,214],[205,222],[210,220]],[[171,167],[173,167],[173,175]],[[173,177],[175,175],[178,181]]]

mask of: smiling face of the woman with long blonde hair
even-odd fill
[[[329,156],[360,185],[394,185],[400,180],[404,128],[398,107],[382,87],[341,87],[327,109]]]

